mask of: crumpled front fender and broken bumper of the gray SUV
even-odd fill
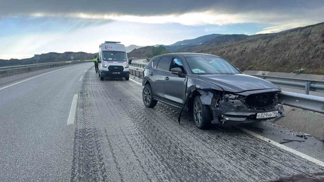
[[[241,93],[233,93],[239,95],[239,99],[226,99],[224,96],[225,93],[228,92],[220,86],[201,80],[198,75],[190,75],[187,79],[186,100],[192,97],[194,91],[199,92],[201,104],[208,105],[211,109],[213,124],[249,124],[262,121],[253,118],[257,113],[278,111],[278,113],[282,114],[284,112],[284,108],[279,104],[273,109],[255,110],[247,107],[246,104],[242,102],[242,98],[252,94],[280,92],[279,88],[246,90]]]

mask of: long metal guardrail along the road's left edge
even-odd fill
[[[0,78],[13,76],[21,73],[28,73],[31,71],[37,71],[41,69],[85,63],[91,60],[77,60],[77,61],[63,61],[63,62],[52,62],[52,63],[40,63],[40,64],[29,64],[29,65],[18,65],[18,66],[6,66],[0,67]]]

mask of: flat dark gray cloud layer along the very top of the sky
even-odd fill
[[[27,15],[43,13],[87,13],[87,14],[123,14],[123,15],[167,15],[184,14],[215,10],[221,14],[244,13],[251,11],[300,12],[302,9],[314,9],[322,5],[322,0],[1,0],[0,16]]]

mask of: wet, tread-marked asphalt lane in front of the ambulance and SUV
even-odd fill
[[[259,181],[323,170],[235,128],[142,103],[141,86],[87,72],[79,90],[71,181]]]

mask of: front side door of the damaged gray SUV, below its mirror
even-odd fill
[[[171,73],[172,68],[181,68],[183,74]],[[165,102],[182,107],[186,94],[186,71],[183,62],[178,57],[172,57],[171,65],[164,80]]]

